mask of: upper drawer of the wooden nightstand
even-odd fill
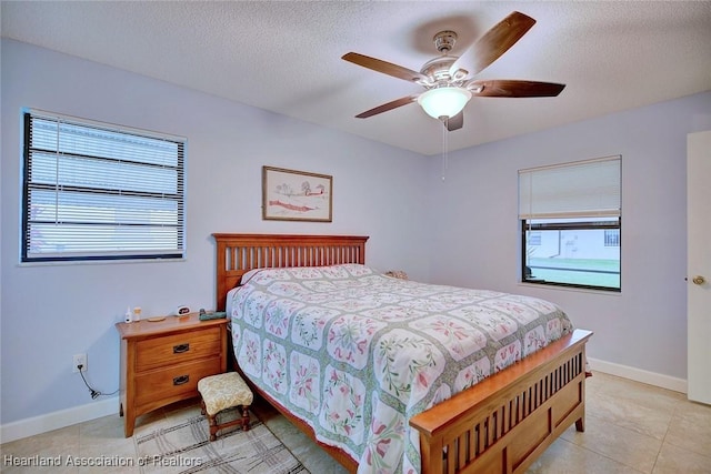
[[[137,343],[136,371],[164,367],[220,354],[221,351],[220,327],[147,339]]]

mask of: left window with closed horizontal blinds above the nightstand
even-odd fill
[[[184,256],[182,138],[24,114],[22,262]]]

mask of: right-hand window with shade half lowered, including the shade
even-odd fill
[[[621,158],[519,171],[521,281],[620,291]]]

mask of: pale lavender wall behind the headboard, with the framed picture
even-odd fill
[[[370,235],[373,266],[427,279],[425,158],[24,43],[3,39],[1,59],[3,425],[97,403],[76,353],[96,389],[117,390],[128,305],[213,307],[212,232]],[[20,266],[23,107],[187,137],[187,260]],[[262,165],[333,175],[333,222],[262,221]]]

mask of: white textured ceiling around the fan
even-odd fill
[[[442,125],[414,83],[341,60],[419,70],[454,30],[458,54],[511,11],[537,24],[478,79],[561,82],[557,98],[474,98],[449,150],[711,90],[711,2],[2,1],[2,37],[422,154]]]

